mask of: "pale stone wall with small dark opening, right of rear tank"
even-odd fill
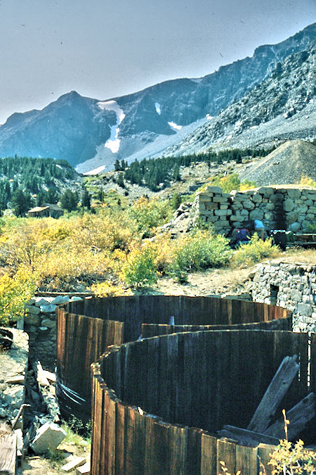
[[[254,272],[255,302],[271,303],[293,312],[294,331],[316,331],[316,266],[265,262]]]

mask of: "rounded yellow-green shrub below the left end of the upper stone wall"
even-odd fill
[[[228,239],[220,234],[198,229],[180,241],[169,265],[169,274],[186,281],[187,272],[225,265],[232,251]]]

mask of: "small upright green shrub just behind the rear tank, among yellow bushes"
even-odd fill
[[[135,249],[122,270],[124,282],[132,287],[152,285],[157,281],[157,253],[151,246]]]

